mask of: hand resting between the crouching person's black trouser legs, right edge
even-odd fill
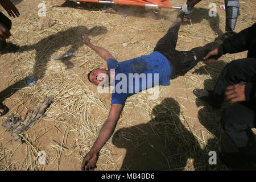
[[[230,104],[245,101],[245,85],[246,83],[228,86],[225,90],[225,101]]]

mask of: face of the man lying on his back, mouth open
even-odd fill
[[[108,84],[109,83],[109,71],[107,71],[105,68],[103,69],[94,69],[92,73],[90,73],[89,79],[93,84],[98,85],[102,81],[106,81]]]

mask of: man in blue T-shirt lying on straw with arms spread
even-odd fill
[[[176,51],[182,18],[183,13],[180,13],[150,55],[122,62],[118,62],[104,48],[94,46],[88,38],[83,36],[83,42],[96,51],[108,64],[108,70],[98,68],[90,72],[88,74],[90,82],[98,85],[98,88],[113,85],[114,92],[112,92],[112,106],[108,119],[102,126],[93,147],[85,155],[81,164],[82,170],[96,168],[99,152],[113,134],[127,97],[156,85],[170,85],[170,79],[184,75],[200,60],[203,60],[209,51],[218,47],[218,43],[214,42],[204,47],[193,48],[191,51]],[[134,75],[137,75],[137,78],[141,77],[137,79]]]

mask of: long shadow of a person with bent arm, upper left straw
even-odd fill
[[[40,40],[38,43],[30,46],[22,46],[19,48],[19,52],[33,51],[35,50],[35,63],[33,66],[33,71],[30,76],[36,76],[36,79],[39,80],[44,77],[46,73],[47,62],[51,60],[51,56],[58,49],[62,47],[69,47],[66,53],[75,52],[79,49],[82,44],[82,35],[88,31],[88,28],[85,26],[77,26],[68,28],[64,31],[59,31],[56,34],[50,35],[47,38]],[[88,35],[97,36],[100,34],[105,34],[107,32],[106,27],[99,26],[94,28],[92,32]],[[65,55],[65,53],[64,53]],[[66,66],[66,69],[74,67],[74,64],[70,61],[71,57],[65,57],[61,59],[61,62]],[[0,93],[1,101],[5,98],[11,96],[21,88],[24,88],[26,84],[27,77],[15,82],[13,85],[10,85],[5,90],[2,90]]]

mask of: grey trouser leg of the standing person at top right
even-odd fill
[[[226,7],[226,32],[234,31],[237,18],[240,15],[239,0],[225,0]]]

